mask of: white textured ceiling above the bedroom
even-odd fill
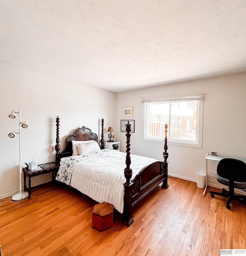
[[[0,0],[0,58],[110,91],[246,70],[246,0]]]

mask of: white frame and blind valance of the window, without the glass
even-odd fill
[[[144,103],[144,129],[143,129],[143,141],[154,142],[154,143],[163,143],[163,138],[161,137],[150,137],[148,136],[148,127],[149,127],[149,106],[152,103],[171,103],[173,102],[183,102],[183,101],[197,101],[197,109],[196,109],[196,140],[181,140],[181,139],[171,139],[168,138],[168,145],[175,145],[175,146],[186,146],[192,148],[202,148],[202,137],[203,137],[203,100],[204,100],[204,93],[198,95],[188,95],[188,96],[177,96],[172,98],[161,98],[161,99],[149,99],[149,100],[142,100]],[[170,108],[171,113],[171,108]],[[169,115],[169,123],[171,121],[171,115]],[[169,136],[169,134],[168,134]]]

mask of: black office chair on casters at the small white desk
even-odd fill
[[[216,178],[219,183],[229,186],[229,191],[224,188],[222,193],[209,191],[211,197],[214,198],[215,194],[228,197],[226,208],[229,210],[231,209],[229,204],[232,200],[246,205],[246,196],[234,195],[234,188],[246,189],[246,163],[233,158],[223,158],[218,163]]]

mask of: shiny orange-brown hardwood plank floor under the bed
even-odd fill
[[[228,210],[226,198],[203,196],[194,182],[168,183],[133,208],[129,228],[115,212],[113,227],[102,232],[91,227],[92,199],[64,186],[35,188],[20,206],[0,205],[2,254],[219,256],[220,249],[246,249],[246,206],[233,202]]]

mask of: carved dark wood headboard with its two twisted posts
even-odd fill
[[[101,138],[101,146],[100,148],[104,148],[104,140],[103,140],[103,119],[102,121],[102,138]],[[82,126],[81,128],[78,128],[73,134],[68,135],[66,138],[66,145],[65,149],[60,152],[61,146],[60,146],[60,137],[59,137],[59,126],[60,126],[60,118],[57,116],[56,118],[57,122],[57,139],[56,139],[56,145],[55,145],[55,150],[57,151],[56,153],[56,163],[60,164],[60,160],[63,157],[66,156],[71,156],[73,154],[73,149],[72,149],[72,141],[85,141],[85,140],[95,140],[98,142],[98,136],[96,133],[93,133],[89,128],[86,128],[85,126]]]

